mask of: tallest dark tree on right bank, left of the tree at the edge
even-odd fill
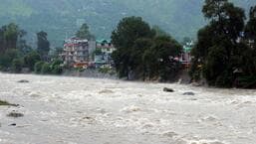
[[[244,10],[228,0],[205,0],[202,12],[209,24],[198,31],[190,73],[195,78],[199,72],[203,72],[210,85],[232,86],[237,78],[234,72],[245,72],[240,65],[244,58],[239,57],[246,51],[237,53],[240,47],[246,46],[241,41]],[[247,50],[246,47],[242,48]]]

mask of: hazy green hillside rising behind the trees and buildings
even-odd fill
[[[194,37],[205,22],[201,14],[204,0],[0,0],[0,25],[15,22],[29,32],[49,34],[53,46],[61,46],[84,22],[98,38],[109,38],[118,22],[127,16],[141,16],[173,37]],[[244,7],[255,0],[233,0]]]

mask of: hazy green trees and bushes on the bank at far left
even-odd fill
[[[23,39],[25,34],[26,32],[14,23],[0,29],[0,71],[23,72],[23,69],[27,69],[26,72],[62,73],[62,61],[56,60],[56,55],[49,63],[50,43],[47,40],[47,33],[38,33],[37,50],[26,44]]]

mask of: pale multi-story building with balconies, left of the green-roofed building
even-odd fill
[[[78,38],[66,40],[62,58],[69,66],[89,63],[89,41]]]

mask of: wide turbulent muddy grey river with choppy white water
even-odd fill
[[[256,90],[0,73],[0,99],[1,144],[256,144]]]

